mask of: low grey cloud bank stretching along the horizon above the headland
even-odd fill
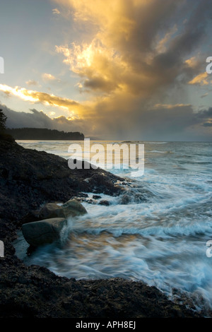
[[[113,102],[112,105],[114,107]],[[122,104],[124,117],[120,114],[118,106],[113,109],[111,107],[108,113],[108,102],[105,104],[102,102],[101,105],[97,104],[96,107],[95,112],[98,117],[93,123],[91,116],[86,119],[66,118],[64,116],[51,119],[45,112],[38,112],[36,109],[31,109],[29,113],[15,112],[5,105],[0,105],[0,108],[8,117],[6,125],[9,128],[35,127],[81,131],[86,136],[96,136],[98,133],[97,136],[102,138],[113,135],[117,139],[121,136],[134,140],[142,137],[143,140],[155,138],[161,141],[164,139],[170,140],[170,137],[172,137],[174,141],[181,141],[185,138],[197,138],[196,130],[198,134],[201,134],[199,132],[201,128],[210,131],[212,124],[212,108],[194,112],[192,105],[155,105],[152,109],[145,109],[142,114],[136,114],[137,125],[134,124],[135,119],[131,119],[130,113],[127,112],[127,107],[124,108],[124,102]],[[98,107],[100,107],[101,112],[99,112]],[[117,119],[120,126],[117,126]],[[102,120],[105,121],[105,128],[107,129],[105,131],[102,131]],[[131,124],[134,124],[134,134],[130,136],[128,129]],[[187,131],[189,131],[189,136],[186,136]],[[209,132],[206,137],[210,137]],[[200,136],[200,138],[204,138],[204,136]]]

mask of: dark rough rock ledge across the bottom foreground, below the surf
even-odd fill
[[[0,318],[199,316],[140,282],[121,278],[76,281],[54,275],[47,268],[25,266],[14,258],[3,261],[1,269]]]

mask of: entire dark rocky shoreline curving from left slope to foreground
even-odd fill
[[[13,247],[23,223],[42,204],[86,192],[123,195],[124,181],[105,170],[70,170],[57,155],[25,149],[0,139],[0,318],[184,318],[201,317],[192,302],[175,303],[156,287],[122,278],[75,280],[47,268],[25,266]],[[104,204],[104,203],[103,203]],[[107,205],[105,203],[105,205]],[[179,304],[180,303],[180,304]]]

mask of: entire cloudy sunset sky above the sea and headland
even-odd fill
[[[1,1],[10,128],[212,141],[208,0]]]

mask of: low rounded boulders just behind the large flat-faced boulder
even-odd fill
[[[87,213],[86,208],[76,201],[76,199],[70,199],[60,206],[57,203],[46,203],[40,210],[39,216],[42,219],[48,218],[68,218],[70,215],[76,217],[76,215],[83,215]]]

